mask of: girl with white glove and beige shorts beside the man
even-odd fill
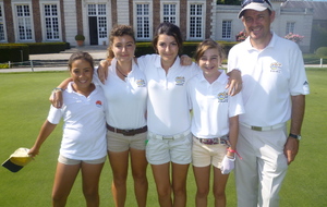
[[[211,166],[214,206],[226,206],[225,187],[234,166],[238,115],[244,112],[241,94],[228,95],[228,76],[225,71],[218,70],[222,59],[222,49],[216,41],[206,39],[201,42],[196,49],[195,61],[203,73],[187,83],[187,96],[193,111],[192,159],[197,186],[197,207],[207,206]]]

